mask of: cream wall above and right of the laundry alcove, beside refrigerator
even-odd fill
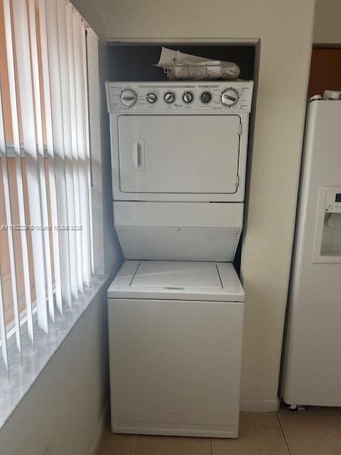
[[[313,35],[313,0],[99,0],[109,41],[260,38],[242,251],[242,397],[276,405]],[[293,14],[294,11],[294,14]],[[88,18],[91,23],[91,17]]]

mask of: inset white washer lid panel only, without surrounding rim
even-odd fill
[[[222,282],[212,262],[146,261],[139,263],[131,287],[222,289]]]

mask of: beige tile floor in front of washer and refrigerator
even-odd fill
[[[242,412],[238,439],[104,432],[97,455],[340,455],[341,409]]]

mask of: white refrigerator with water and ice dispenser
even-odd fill
[[[282,397],[341,406],[341,100],[308,102]]]

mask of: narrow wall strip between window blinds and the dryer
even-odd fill
[[[123,262],[123,256],[114,230],[109,114],[104,87],[104,82],[109,78],[111,59],[107,46],[99,41],[91,29],[87,31],[87,50],[94,269],[97,274],[114,275]]]

